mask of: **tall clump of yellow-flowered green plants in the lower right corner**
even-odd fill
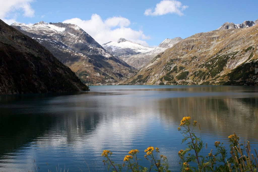
[[[224,143],[216,141],[214,143],[216,152],[213,154],[212,149],[205,157],[200,155],[203,152],[204,143],[201,138],[197,137],[193,132],[197,121],[190,121],[191,117],[183,117],[178,130],[182,133],[182,143],[187,142],[188,147],[185,150],[180,150],[178,155],[180,157],[181,171],[257,171],[258,155],[255,150],[256,157],[251,154],[250,143],[247,145],[239,143],[239,137],[236,133],[230,135],[229,143],[230,150],[226,150]],[[200,126],[199,126],[200,129]],[[207,149],[207,143],[206,143]],[[231,157],[228,157],[227,152],[230,151]],[[188,153],[188,154],[187,154]],[[246,155],[245,155],[246,154]],[[190,164],[197,163],[195,168]]]

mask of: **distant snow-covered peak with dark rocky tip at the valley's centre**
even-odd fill
[[[145,53],[153,50],[154,48],[145,47],[141,44],[119,38],[117,42],[108,42],[102,45],[108,52],[118,57],[129,56],[133,54]]]

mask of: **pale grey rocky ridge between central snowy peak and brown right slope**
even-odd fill
[[[165,51],[167,48],[171,48],[174,44],[180,42],[182,38],[176,37],[174,39],[165,39],[158,47],[145,53],[134,54],[130,56],[120,56],[119,58],[124,60],[127,64],[133,66],[136,69],[141,69],[146,66],[156,55]]]

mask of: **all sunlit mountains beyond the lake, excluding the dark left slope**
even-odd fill
[[[11,26],[44,45],[84,83],[258,85],[257,22],[226,22],[214,31],[165,39],[156,48],[124,38],[101,46],[74,24]]]

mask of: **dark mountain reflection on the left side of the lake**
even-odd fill
[[[60,101],[63,96],[85,95],[88,93],[49,93],[35,95],[3,95],[0,97],[0,159],[5,153],[11,153],[24,149],[42,138],[53,139],[51,136],[62,137],[65,142],[72,143],[75,136],[83,136],[94,130],[99,122],[99,115],[88,113],[85,110],[76,110],[76,107],[84,107],[84,104],[63,104]],[[94,94],[94,93],[93,93]],[[56,97],[59,95],[58,97]],[[37,99],[37,101],[35,101]],[[74,106],[70,113],[62,112],[59,105],[65,107]],[[81,102],[79,102],[81,103]],[[46,108],[47,107],[47,108]],[[65,135],[64,135],[65,133]],[[57,140],[60,141],[60,140]],[[53,140],[54,142],[54,140]]]

